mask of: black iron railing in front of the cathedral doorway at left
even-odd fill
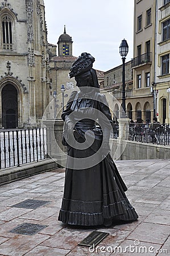
[[[0,169],[45,159],[46,129],[0,130]]]

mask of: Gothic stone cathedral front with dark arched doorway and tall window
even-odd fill
[[[50,97],[44,1],[0,1],[0,24],[0,127],[39,126]]]

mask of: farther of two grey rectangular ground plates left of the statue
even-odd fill
[[[11,207],[36,209],[36,208],[38,208],[42,205],[48,204],[48,203],[50,203],[50,201],[28,199],[28,200],[20,202],[19,204],[14,204]]]

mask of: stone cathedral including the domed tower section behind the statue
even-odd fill
[[[48,43],[43,0],[0,0],[0,24],[0,129],[38,127],[44,115],[60,118],[76,87],[69,72],[77,57],[65,26],[57,44]],[[103,80],[103,72],[97,76]]]

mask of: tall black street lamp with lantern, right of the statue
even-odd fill
[[[121,118],[126,118],[126,96],[125,96],[125,60],[128,53],[128,44],[125,39],[122,40],[119,46],[119,53],[122,57],[122,115]]]

